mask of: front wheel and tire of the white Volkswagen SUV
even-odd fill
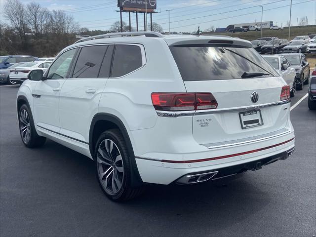
[[[21,106],[18,119],[20,136],[24,146],[29,148],[43,146],[46,138],[37,133],[31,110],[26,104]]]

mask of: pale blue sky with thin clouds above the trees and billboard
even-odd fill
[[[0,0],[2,6],[6,0]],[[107,30],[112,23],[119,20],[117,0],[35,0],[50,10],[63,9],[73,15],[80,27],[90,30]],[[308,2],[307,2],[308,1]],[[22,0],[24,3],[30,0]],[[297,4],[299,3],[299,4]],[[170,30],[192,32],[214,26],[226,27],[234,23],[274,21],[274,24],[285,25],[289,19],[290,0],[157,0],[160,13],[153,14],[153,21],[168,31],[168,12],[170,11]],[[292,25],[296,26],[297,18],[308,17],[308,24],[316,24],[316,0],[292,0]],[[276,8],[276,9],[275,9]],[[225,13],[226,12],[226,13]],[[251,13],[251,14],[249,14]],[[3,21],[3,14],[0,15]],[[131,14],[132,26],[136,27],[135,13]],[[197,19],[192,19],[197,18]],[[128,13],[123,13],[123,20],[128,23]],[[148,15],[149,22],[149,15]],[[144,26],[143,16],[139,15],[139,26]]]

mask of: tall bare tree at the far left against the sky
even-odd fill
[[[27,13],[24,5],[19,0],[8,0],[4,4],[4,16],[18,32],[22,44],[25,45],[27,31]]]

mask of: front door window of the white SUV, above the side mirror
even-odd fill
[[[77,48],[70,49],[60,55],[53,65],[50,67],[47,79],[63,79],[66,78],[69,66],[73,57],[77,51]]]

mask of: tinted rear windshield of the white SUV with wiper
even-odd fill
[[[241,79],[245,72],[277,75],[253,48],[177,45],[170,50],[184,81]]]

